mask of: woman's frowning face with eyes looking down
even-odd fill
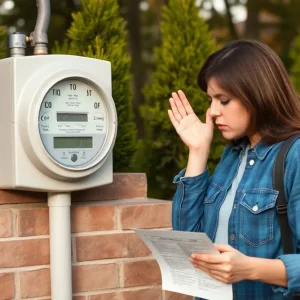
[[[210,115],[226,140],[248,136],[251,146],[259,139],[251,126],[251,116],[242,102],[222,90],[215,78],[208,81],[207,95],[211,100]],[[257,140],[258,139],[258,140]]]

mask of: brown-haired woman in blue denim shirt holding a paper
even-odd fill
[[[233,283],[234,299],[300,295],[300,140],[286,160],[285,193],[294,253],[284,255],[272,169],[281,142],[300,131],[300,102],[279,57],[255,41],[212,54],[198,76],[210,107],[201,122],[182,91],[170,120],[189,148],[174,179],[173,229],[205,232],[221,255],[194,253],[197,268]],[[230,141],[213,175],[206,168],[214,122]]]

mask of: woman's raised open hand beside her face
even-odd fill
[[[209,109],[206,112],[206,123],[201,122],[182,91],[172,93],[170,105],[171,109],[168,110],[170,120],[189,150],[209,147],[214,128]]]

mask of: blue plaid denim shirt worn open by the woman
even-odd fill
[[[246,168],[229,218],[228,243],[248,256],[281,259],[286,267],[288,287],[245,280],[233,284],[234,299],[296,299],[293,296],[300,295],[300,139],[291,147],[285,165],[285,194],[295,253],[288,255],[283,254],[276,212],[278,191],[272,184],[273,164],[280,144],[260,142],[248,150]],[[175,176],[174,230],[205,232],[214,241],[220,207],[245,149],[246,143],[227,146],[211,177],[207,169],[198,176],[183,177],[185,170]]]

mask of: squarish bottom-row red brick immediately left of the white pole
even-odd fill
[[[51,296],[50,269],[21,272],[20,288],[21,298]]]

